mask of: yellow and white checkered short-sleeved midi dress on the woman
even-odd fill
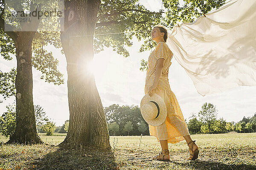
[[[154,93],[161,96],[166,103],[166,122],[160,126],[148,125],[150,136],[155,136],[157,138],[157,142],[160,142],[159,140],[167,139],[169,143],[177,143],[184,140],[183,136],[190,135],[176,96],[172,92],[169,85],[168,71],[170,65],[172,64],[172,56],[172,51],[169,49],[168,45],[165,42],[160,41],[158,42],[154,51],[152,51],[148,57],[148,71],[145,79],[145,94],[148,94],[148,88],[154,83],[157,59],[165,59],[162,74],[157,84],[157,88],[154,89]]]

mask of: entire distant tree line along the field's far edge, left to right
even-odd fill
[[[36,126],[39,133],[67,133],[69,120],[62,126],[56,127],[54,122],[50,122],[44,109],[40,105],[35,105]],[[0,116],[0,133],[9,137],[15,130],[16,109],[14,105],[6,106],[7,111]],[[116,104],[104,108],[108,130],[111,136],[138,136],[149,135],[148,124],[143,119],[138,106],[119,106]],[[227,122],[223,118],[217,119],[217,109],[211,103],[204,103],[201,111],[196,115],[192,113],[189,121],[189,133],[227,133],[236,131],[238,133],[256,132],[256,113],[254,116],[245,117],[235,123]],[[186,120],[185,120],[186,121]]]

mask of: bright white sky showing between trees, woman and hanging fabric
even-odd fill
[[[161,9],[161,2],[160,0],[140,0],[140,3],[150,11]],[[104,51],[94,55],[95,81],[104,107],[112,104],[140,105],[140,100],[144,96],[146,72],[140,71],[140,61],[141,59],[147,61],[151,50],[140,53],[143,40],[139,42],[134,37],[131,41],[133,45],[126,48],[130,57],[124,58],[116,54],[112,48],[105,48]],[[64,74],[65,83],[58,86],[44,82],[40,79],[41,72],[33,68],[33,100],[34,105],[41,105],[47,116],[60,126],[69,119],[67,63],[60,49],[48,46],[47,50],[52,51],[59,60],[58,68]],[[7,72],[13,67],[16,67],[15,57],[12,61],[0,57],[1,71]],[[191,113],[198,113],[205,102],[215,105],[218,109],[218,118],[223,117],[228,122],[238,122],[243,116],[253,116],[256,112],[256,86],[241,86],[203,97],[197,93],[192,80],[177,63],[175,57],[169,68],[169,83],[187,120]],[[0,96],[0,99],[3,100],[3,97]],[[0,104],[0,114],[6,111],[6,105],[12,102],[15,102],[15,97],[4,100]]]

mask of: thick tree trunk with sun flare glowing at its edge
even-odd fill
[[[94,75],[87,71],[93,60],[93,36],[100,0],[65,1],[61,43],[67,59],[70,122],[61,147],[110,148],[108,126]]]

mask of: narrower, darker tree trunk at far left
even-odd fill
[[[32,40],[35,32],[19,32],[15,41],[17,58],[16,87],[16,128],[7,143],[43,143],[35,123],[32,79]]]

